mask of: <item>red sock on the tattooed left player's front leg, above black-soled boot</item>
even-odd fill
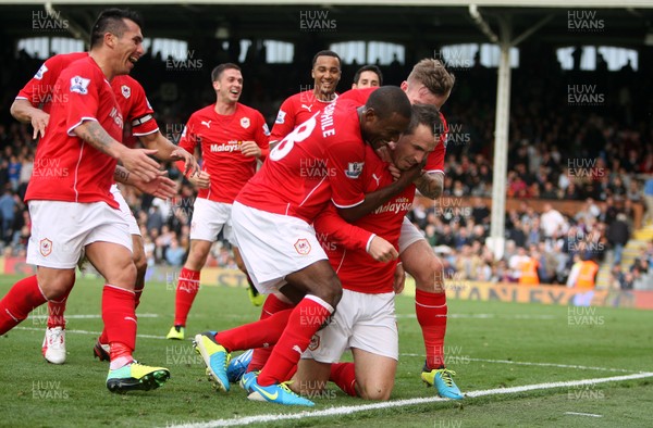
[[[102,290],[102,320],[107,330],[107,342],[111,345],[111,361],[132,356],[136,348],[136,312],[134,292],[104,285]]]

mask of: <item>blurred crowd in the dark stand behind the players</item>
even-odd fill
[[[232,60],[229,52],[223,55],[218,60]],[[257,58],[248,55],[242,64],[245,84],[241,102],[260,110],[271,126],[281,102],[308,89],[310,62],[266,64]],[[24,52],[17,60],[4,52],[0,60],[5,64],[0,105],[8,112],[41,60]],[[539,52],[525,52],[520,62],[521,66],[513,71],[505,189],[507,197],[519,203],[506,213],[503,256],[494,257],[485,246],[490,231],[486,198],[492,191],[494,68],[477,63],[453,70],[456,86],[443,108],[449,124],[444,193],[438,202],[417,199],[410,219],[442,255],[445,275],[451,278],[518,282],[521,272],[517,266],[529,257],[537,261],[541,284],[565,285],[574,263],[593,259],[609,263],[611,287],[646,288],[653,284],[653,242],[632,263],[623,263],[623,250],[634,229],[633,206],[653,198],[653,129],[648,117],[653,101],[646,96],[653,93],[653,80],[629,67],[563,71],[553,55]],[[134,76],[157,111],[162,134],[176,142],[190,113],[214,101],[209,77],[212,65],[181,74],[165,64],[160,56],[146,55]],[[338,91],[350,87],[360,65],[343,64]],[[410,67],[398,62],[381,66],[384,84],[401,84]],[[297,86],[297,81],[306,85]],[[604,102],[570,103],[568,88],[579,83],[596,85]],[[36,146],[28,126],[9,114],[1,117],[0,248],[4,256],[21,256],[29,237],[29,215],[22,199]],[[123,194],[139,221],[149,264],[182,266],[195,190],[174,165],[164,167],[180,185],[173,200],[155,199],[133,188],[124,188]],[[578,201],[582,209],[570,215],[551,203],[532,203],[560,200]],[[208,265],[235,268],[226,241],[213,246]]]

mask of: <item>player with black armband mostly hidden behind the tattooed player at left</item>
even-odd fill
[[[58,54],[48,59],[32,80],[19,92],[11,106],[11,113],[20,122],[32,123],[34,138],[38,135],[41,137],[45,136],[50,118],[52,90],[59,75],[70,64],[85,58],[88,58],[87,52]],[[184,163],[182,168],[185,169],[187,175],[194,176],[198,173],[199,167],[195,158],[187,151],[174,146],[160,133],[159,126],[153,118],[153,111],[145,96],[145,90],[138,81],[128,75],[119,75],[111,81],[111,87],[124,117],[131,124],[133,136],[138,137],[146,147],[156,149],[157,155],[160,159],[182,159]],[[155,180],[147,182],[138,180],[128,171],[118,166],[114,179],[123,184],[133,185],[141,191],[164,199],[171,198],[176,193],[174,181],[164,176],[157,176]],[[147,270],[143,237],[140,236],[140,229],[136,219],[116,185],[111,186],[111,193],[120,204],[120,210],[130,225],[133,257],[136,265],[135,306],[138,307],[143,288],[145,287],[145,274]],[[50,300],[48,302],[49,317],[46,337],[44,338],[42,353],[46,361],[52,364],[63,364],[66,358],[64,317],[67,293],[57,301]],[[101,361],[109,361],[109,351],[107,331],[102,330],[94,348],[94,354]]]

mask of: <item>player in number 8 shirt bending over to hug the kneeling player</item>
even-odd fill
[[[234,203],[233,223],[247,272],[259,291],[279,290],[297,305],[239,328],[196,336],[196,348],[221,389],[230,388],[229,352],[260,347],[267,335],[279,338],[275,329],[281,328],[270,358],[250,379],[249,399],[313,405],[283,382],[312,335],[333,314],[342,288],[310,223],[330,199],[344,218],[356,221],[417,177],[419,167],[368,194],[360,180],[366,146],[378,149],[396,141],[409,118],[410,103],[396,87],[380,88],[359,109],[336,101],[285,137],[245,185]],[[394,248],[381,241],[372,239],[370,246],[381,259],[395,259]]]

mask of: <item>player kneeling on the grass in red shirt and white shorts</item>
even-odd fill
[[[435,149],[440,126],[438,109],[414,105],[408,129],[389,152],[392,164],[399,171],[423,164]],[[366,192],[393,181],[387,162],[373,153],[366,160]],[[398,250],[402,224],[414,197],[415,187],[409,186],[353,224],[345,223],[333,205],[316,218],[316,231],[342,281],[343,297],[331,323],[315,333],[303,354],[289,386],[295,392],[315,396],[331,379],[349,395],[390,399],[399,353],[394,297],[403,288],[404,269],[396,260],[368,253],[368,243],[384,239]],[[347,348],[354,363],[337,363]]]

